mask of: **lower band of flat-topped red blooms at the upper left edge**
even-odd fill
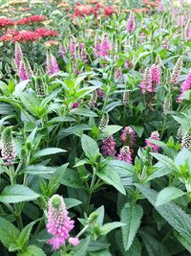
[[[0,41],[28,42],[35,41],[42,37],[57,36],[55,31],[38,28],[35,31],[10,31],[0,36]]]

